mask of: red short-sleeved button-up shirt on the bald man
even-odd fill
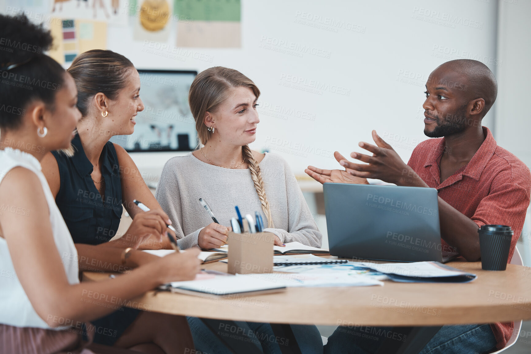
[[[444,137],[418,144],[407,163],[439,196],[467,218],[482,225],[509,225],[515,234],[511,240],[509,261],[524,226],[531,174],[529,168],[509,151],[496,144],[490,130],[483,127],[485,141],[472,160],[441,183],[440,165]],[[451,153],[451,151],[448,151]],[[442,245],[448,245],[442,240]],[[502,349],[511,338],[514,322],[491,324],[496,348]]]

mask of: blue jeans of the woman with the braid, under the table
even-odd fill
[[[192,331],[195,349],[203,354],[232,353],[219,337],[227,341],[230,340],[233,344],[236,343],[236,345],[238,343],[241,343],[242,346],[252,345],[264,354],[280,354],[280,346],[288,344],[284,338],[275,336],[269,323],[226,322],[216,320],[216,333],[213,333],[199,318],[186,317],[186,319]],[[236,326],[234,323],[236,323]],[[298,347],[303,354],[323,353],[323,342],[317,327],[313,325],[290,326],[295,335]],[[244,352],[244,349],[236,352]]]

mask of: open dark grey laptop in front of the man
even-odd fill
[[[437,190],[325,183],[330,254],[367,260],[448,262],[443,252]]]

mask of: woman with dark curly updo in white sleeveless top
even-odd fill
[[[79,282],[78,253],[39,162],[45,152],[70,146],[81,117],[75,83],[41,54],[52,45],[49,31],[24,15],[0,15],[0,33],[39,49],[0,51],[0,72],[7,73],[0,83],[0,352],[78,352],[80,333],[113,333],[85,322],[113,312],[118,300],[193,279],[199,252],[175,253],[116,279]],[[116,346],[169,353],[185,352],[193,342],[183,317],[143,312]]]

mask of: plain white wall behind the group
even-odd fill
[[[169,49],[146,53],[160,44],[134,41],[131,27],[109,28],[108,47],[138,68],[202,71],[222,65],[243,72],[262,91],[253,148],[269,146],[296,174],[303,174],[307,165],[338,166],[332,152],[355,150],[359,141],[371,140],[371,129],[388,140],[401,140],[393,144],[408,159],[426,139],[421,106],[430,72],[460,57],[481,58],[495,69],[489,62],[496,59],[497,2],[486,1],[242,0],[241,49],[174,49],[173,35],[166,43]],[[164,57],[172,50],[177,59]],[[212,61],[193,58],[200,55]],[[298,89],[284,86],[299,80]],[[314,82],[324,89],[303,91],[311,90]],[[142,168],[167,158],[135,160]]]

